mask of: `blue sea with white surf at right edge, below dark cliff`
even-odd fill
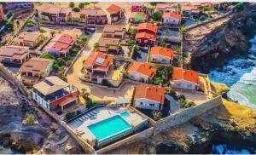
[[[209,78],[230,87],[231,100],[256,109],[256,35],[250,39],[247,55],[229,60],[220,68],[212,68]]]

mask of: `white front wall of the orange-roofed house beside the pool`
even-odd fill
[[[152,104],[150,106],[150,104]],[[134,106],[142,109],[150,109],[150,110],[160,110],[160,104],[147,99],[136,99],[134,102]]]

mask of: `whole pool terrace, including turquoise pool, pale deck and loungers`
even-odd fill
[[[126,107],[96,107],[67,123],[91,146],[104,146],[131,134],[137,126],[148,121]]]

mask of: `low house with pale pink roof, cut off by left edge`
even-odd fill
[[[22,64],[28,59],[28,47],[9,45],[3,47],[0,52],[0,61],[2,63]]]

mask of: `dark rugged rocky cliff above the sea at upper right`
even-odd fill
[[[243,55],[249,48],[248,37],[256,34],[256,5],[241,12],[197,26],[184,34],[184,66],[206,71],[221,66],[232,55]]]

